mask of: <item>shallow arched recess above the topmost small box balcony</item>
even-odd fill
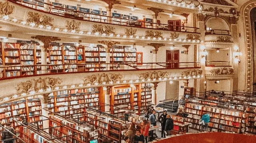
[[[218,25],[216,25],[216,23]],[[206,20],[205,25],[212,29],[220,29],[220,30],[229,30],[230,31],[230,24],[228,24],[228,22],[226,22],[226,20],[221,17],[211,16],[210,18],[208,18]],[[222,25],[222,27],[220,27],[220,25]]]

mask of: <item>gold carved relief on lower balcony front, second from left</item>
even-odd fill
[[[112,84],[120,82],[123,75],[116,73],[100,73],[83,77],[84,85]]]

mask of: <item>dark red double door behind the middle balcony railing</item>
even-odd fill
[[[166,50],[166,68],[179,68],[180,50]]]

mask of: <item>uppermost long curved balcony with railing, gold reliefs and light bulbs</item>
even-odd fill
[[[2,26],[4,29],[1,29],[4,31],[16,32],[17,30],[11,30],[15,26],[19,27],[20,31],[28,30],[29,34],[33,35],[44,32],[43,34],[48,36],[68,38],[70,34],[73,35],[72,37],[76,35],[76,38],[87,37],[90,42],[93,37],[97,37],[94,38],[95,42],[98,41],[98,37],[101,40],[134,40],[133,42],[152,40],[160,43],[201,42],[199,29],[194,27],[153,23],[152,19],[138,20],[136,16],[121,17],[120,14],[115,16],[114,13],[112,13],[113,17],[108,17],[103,11],[92,11],[87,8],[72,10],[46,3],[42,6],[38,2],[8,1],[9,5],[14,7],[11,10],[12,14],[0,19],[0,23],[4,25]],[[23,31],[23,33],[27,32]]]

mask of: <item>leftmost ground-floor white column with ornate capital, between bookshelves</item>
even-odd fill
[[[44,108],[47,108],[48,99],[49,99],[48,94],[44,94],[44,95],[43,95],[43,99],[41,99],[42,115],[43,115],[42,119],[44,120],[44,121],[43,121],[43,129],[49,128],[49,120],[47,120],[48,118],[46,118],[46,117],[49,117],[49,115],[48,115],[49,112],[44,109]],[[45,117],[44,117],[44,116],[45,116]],[[44,131],[46,131],[47,133],[49,133],[49,130],[48,130],[48,129],[46,129],[46,130],[44,130]]]

